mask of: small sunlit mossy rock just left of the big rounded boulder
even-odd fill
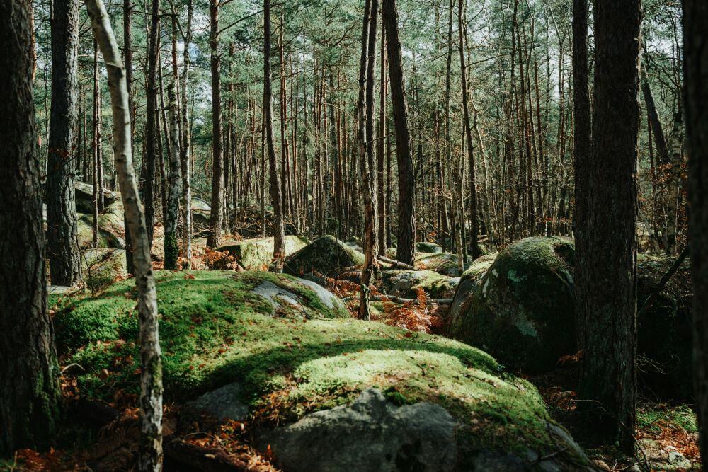
[[[430,298],[450,298],[457,282],[432,270],[384,270],[382,278],[386,293],[395,297],[415,299],[418,289]]]

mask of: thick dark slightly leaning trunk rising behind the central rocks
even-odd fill
[[[416,180],[411,154],[408,105],[403,77],[401,40],[398,35],[396,0],[384,0],[382,15],[387,38],[391,105],[396,128],[396,161],[399,168],[399,227],[396,259],[413,265],[416,255]]]

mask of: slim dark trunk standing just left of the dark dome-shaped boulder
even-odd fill
[[[270,75],[270,0],[263,1],[263,110],[265,145],[270,163],[270,200],[273,202],[273,259],[275,271],[282,272],[285,259],[285,225],[282,221],[282,193],[278,176],[278,160],[273,146],[273,81]],[[265,227],[265,225],[264,225]]]

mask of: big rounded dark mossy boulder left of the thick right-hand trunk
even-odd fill
[[[509,367],[553,369],[576,345],[573,253],[573,241],[554,236],[508,246],[450,319],[448,333]]]

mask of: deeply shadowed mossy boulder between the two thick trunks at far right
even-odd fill
[[[639,255],[636,292],[639,308],[674,263],[665,255]],[[686,260],[637,320],[639,381],[660,397],[691,398],[693,288]]]

